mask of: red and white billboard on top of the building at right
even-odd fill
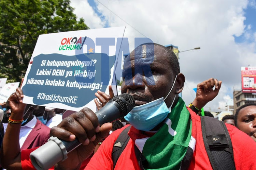
[[[241,67],[242,90],[244,93],[256,92],[256,67]]]

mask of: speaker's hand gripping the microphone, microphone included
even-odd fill
[[[31,162],[36,169],[49,169],[54,164],[56,169],[79,168],[94,152],[95,146],[109,135],[110,122],[126,116],[134,104],[131,95],[122,94],[112,98],[96,113],[83,108],[66,117],[51,129],[50,140],[30,154]]]

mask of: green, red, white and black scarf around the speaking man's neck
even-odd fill
[[[179,98],[156,133],[131,127],[129,136],[147,160],[146,167],[143,165],[144,169],[178,170],[184,164],[185,155],[186,159],[193,156],[195,139],[191,136],[191,130],[189,111],[184,101]]]

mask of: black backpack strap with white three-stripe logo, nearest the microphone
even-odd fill
[[[113,150],[112,150],[112,160],[113,165],[115,168],[116,162],[121,155],[121,153],[124,151],[128,141],[130,140],[130,136],[128,135],[129,130],[131,129],[131,125],[129,125],[127,128],[125,128],[116,139]]]

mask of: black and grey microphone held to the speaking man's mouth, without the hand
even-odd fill
[[[101,126],[104,123],[113,122],[126,116],[134,105],[134,98],[124,93],[113,97],[95,114]],[[81,143],[77,138],[74,141],[68,142],[52,136],[47,143],[30,154],[30,159],[37,170],[47,170],[61,160],[67,159],[67,154],[79,145]]]

